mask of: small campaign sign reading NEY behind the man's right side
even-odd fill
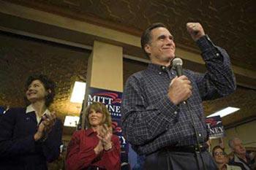
[[[206,117],[206,125],[210,133],[210,139],[224,137],[224,126],[222,125],[222,118],[220,116]]]

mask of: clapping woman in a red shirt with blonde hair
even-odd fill
[[[104,104],[86,108],[86,130],[75,131],[67,147],[68,170],[120,169],[120,142],[112,134],[111,117]]]

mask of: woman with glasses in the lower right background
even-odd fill
[[[214,157],[215,163],[217,163],[219,170],[241,170],[239,166],[230,166],[228,165],[228,158],[224,149],[217,145],[212,150],[212,155]]]

